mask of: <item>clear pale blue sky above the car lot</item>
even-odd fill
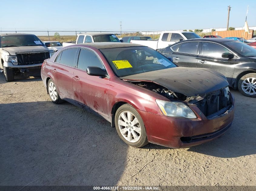
[[[256,0],[2,1],[0,27],[76,30],[178,30],[256,26]]]

